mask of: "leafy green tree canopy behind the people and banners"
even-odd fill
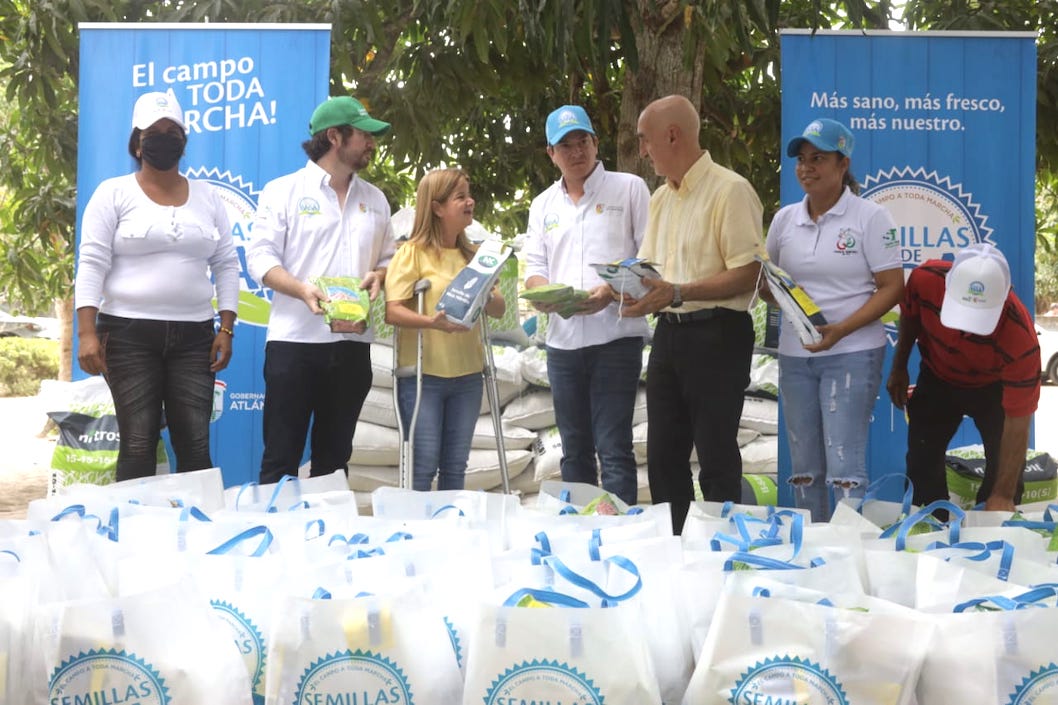
[[[1058,0],[908,0],[913,29],[1039,33],[1041,183],[1058,174]],[[584,105],[612,167],[635,158],[638,109],[671,86],[652,73],[675,44],[700,86],[703,143],[779,204],[782,28],[884,29],[891,0],[7,0],[0,3],[0,296],[40,309],[69,295],[76,174],[77,22],[328,22],[332,94],[394,124],[365,177],[395,209],[425,170],[458,165],[476,217],[512,236],[558,176],[547,113]],[[679,73],[679,69],[669,70]],[[653,92],[652,92],[653,91]],[[1040,250],[1058,201],[1040,201]],[[1051,223],[1051,224],[1048,224]],[[1050,233],[1050,235],[1048,235]]]

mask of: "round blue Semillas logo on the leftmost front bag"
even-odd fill
[[[50,703],[169,705],[169,691],[154,668],[133,654],[92,649],[62,662],[48,687]]]

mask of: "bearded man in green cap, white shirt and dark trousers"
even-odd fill
[[[260,482],[297,474],[311,420],[311,474],[347,470],[371,387],[371,331],[332,332],[312,279],[357,276],[373,301],[396,250],[389,203],[358,173],[389,123],[349,96],[324,101],[302,144],[304,167],[258,198],[250,274],[274,291],[264,346],[264,453]]]

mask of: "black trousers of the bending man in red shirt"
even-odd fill
[[[949,384],[923,364],[908,400],[908,478],[914,484],[914,503],[926,506],[947,500],[945,456],[963,417],[969,416],[985,447],[985,477],[978,490],[978,504],[991,494],[999,472],[1003,438],[1003,385],[964,387]],[[1015,503],[1021,502],[1024,482],[1019,477]]]

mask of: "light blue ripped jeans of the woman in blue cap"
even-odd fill
[[[817,522],[831,519],[837,500],[867,489],[867,439],[881,384],[886,348],[779,356],[779,394],[790,450],[797,506]]]

